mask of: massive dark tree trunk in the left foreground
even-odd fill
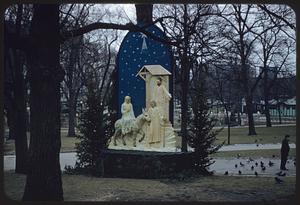
[[[59,163],[59,6],[35,4],[28,52],[30,74],[29,170],[23,200],[62,201]]]

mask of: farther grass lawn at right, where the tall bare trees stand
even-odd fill
[[[257,127],[257,135],[248,136],[248,128],[231,128],[230,144],[253,144],[257,140],[260,144],[281,143],[284,135],[290,135],[290,142],[296,142],[296,125],[280,126],[280,127]],[[226,141],[227,144],[227,128],[224,128],[217,136],[216,144]]]

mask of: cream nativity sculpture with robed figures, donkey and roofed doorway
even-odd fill
[[[135,118],[134,104],[125,96],[121,118],[115,123],[109,149],[143,151],[176,151],[176,134],[169,120],[169,76],[161,65],[145,65],[136,74],[146,83],[145,104],[142,114]],[[119,141],[119,142],[118,142]]]

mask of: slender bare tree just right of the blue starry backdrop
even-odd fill
[[[178,55],[179,67],[175,81],[180,85],[181,102],[181,150],[187,151],[187,123],[188,123],[188,93],[191,72],[195,61],[201,61],[206,51],[209,50],[207,44],[213,38],[207,29],[206,22],[213,12],[211,5],[170,5],[158,8],[157,19],[164,32],[174,43],[175,53]],[[177,46],[176,46],[177,45]],[[178,46],[179,45],[179,46]]]

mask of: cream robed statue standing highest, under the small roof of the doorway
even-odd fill
[[[167,118],[167,110],[169,110],[169,101],[172,95],[167,91],[164,85],[162,85],[162,78],[158,77],[156,85],[153,90],[153,95],[151,101],[156,102],[156,106],[160,110],[164,119]]]

